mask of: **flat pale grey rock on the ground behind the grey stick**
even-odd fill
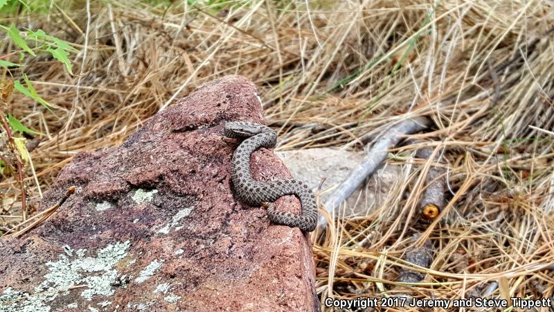
[[[319,202],[323,202],[332,192],[332,188],[341,183],[364,157],[361,153],[336,148],[287,150],[277,152],[276,155],[283,159],[294,178],[305,182],[314,191],[325,179],[321,184]],[[382,165],[363,187],[352,193],[348,198],[348,205],[341,206],[346,209],[344,216],[366,216],[378,208],[399,179],[400,166]],[[339,215],[343,215],[342,211]]]

